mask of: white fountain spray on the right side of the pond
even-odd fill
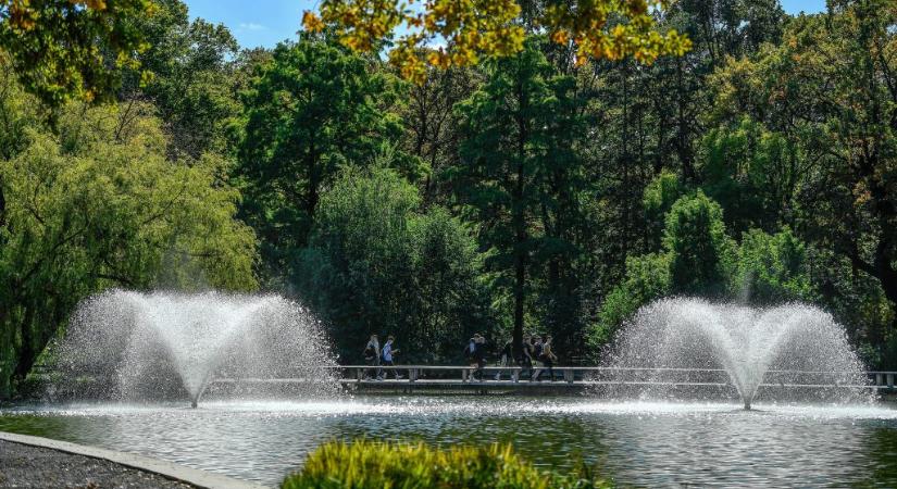
[[[625,368],[647,373],[648,378],[638,379],[644,386],[639,397],[646,399],[669,397],[673,385],[719,385],[725,381],[719,379],[721,373],[746,410],[764,383],[790,387],[788,396],[799,392],[802,401],[872,399],[844,328],[819,308],[800,303],[757,309],[662,299],[641,308],[623,326],[607,363],[623,368],[613,374],[621,384],[633,372]],[[693,377],[670,381],[670,375]]]

